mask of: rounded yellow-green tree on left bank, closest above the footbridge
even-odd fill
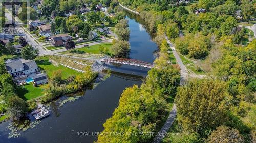
[[[111,52],[117,57],[126,57],[130,51],[130,44],[127,41],[113,40]]]

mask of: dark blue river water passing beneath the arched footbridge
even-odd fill
[[[130,28],[130,58],[153,63],[157,45],[151,35],[142,26],[142,22],[128,16]],[[140,24],[142,23],[142,24]],[[93,90],[86,90],[84,96],[62,107],[54,102],[50,106],[51,115],[41,120],[35,128],[20,132],[17,138],[8,138],[9,121],[0,124],[0,142],[2,143],[45,143],[45,142],[93,142],[97,132],[103,131],[102,124],[112,116],[118,106],[121,93],[126,87],[142,82],[127,78],[129,75],[146,76],[149,69],[129,65],[112,65],[109,68],[115,74],[102,81]],[[124,73],[124,74],[123,74]],[[118,75],[118,76],[117,76]],[[123,75],[123,76],[122,76]],[[133,76],[131,76],[133,77]],[[83,132],[83,135],[77,135]]]

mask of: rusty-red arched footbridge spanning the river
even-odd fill
[[[100,60],[101,62],[108,62],[108,63],[117,63],[117,64],[125,64],[125,65],[132,65],[138,67],[145,67],[145,68],[153,68],[154,65],[151,63],[147,63],[140,60],[135,59],[127,59],[127,58],[103,58]]]

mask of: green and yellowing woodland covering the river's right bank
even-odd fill
[[[189,1],[188,5],[172,0],[119,2],[138,11],[148,30],[156,33],[154,41],[160,53],[155,64],[160,69],[150,70],[140,88],[134,86],[123,92],[103,132],[157,132],[159,121],[164,119],[162,112],[167,109],[160,105],[164,105],[166,97],[173,97],[178,116],[169,132],[179,135],[167,136],[163,142],[255,142],[256,40],[244,43],[246,29],[238,26],[256,17],[255,1],[200,0]],[[167,62],[164,34],[180,54],[202,61],[208,75],[173,86],[172,81],[178,81],[179,75],[174,71],[179,67]],[[147,100],[155,102],[144,99],[148,94],[151,96]],[[98,137],[98,142],[152,140],[147,135]]]

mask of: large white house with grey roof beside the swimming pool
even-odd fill
[[[38,67],[34,60],[25,59],[8,59],[6,62],[6,70],[14,78],[27,77],[27,75],[38,72]]]

